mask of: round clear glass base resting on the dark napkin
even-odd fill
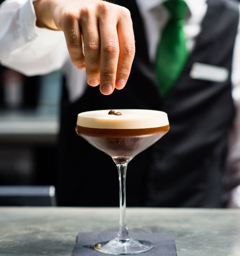
[[[124,242],[123,242],[124,241]],[[118,240],[117,238],[107,242],[101,242],[94,245],[94,249],[100,253],[106,254],[139,254],[150,251],[153,244],[143,240]]]

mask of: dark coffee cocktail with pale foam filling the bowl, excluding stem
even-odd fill
[[[76,132],[112,158],[132,159],[169,130],[167,114],[155,110],[118,109],[78,114]]]

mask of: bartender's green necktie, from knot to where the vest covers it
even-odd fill
[[[155,72],[160,92],[166,97],[186,63],[188,52],[183,31],[187,5],[183,0],[168,0],[163,4],[171,18],[162,32],[157,48]]]

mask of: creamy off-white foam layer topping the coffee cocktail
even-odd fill
[[[146,109],[114,109],[121,116],[109,115],[109,110],[88,111],[78,114],[77,125],[100,129],[146,129],[167,126],[165,112]]]

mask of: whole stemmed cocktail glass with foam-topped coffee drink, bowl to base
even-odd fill
[[[94,245],[106,254],[138,254],[153,248],[152,243],[136,240],[126,224],[126,169],[141,151],[157,142],[169,130],[167,114],[144,109],[98,110],[78,114],[76,132],[94,147],[111,156],[117,165],[120,194],[120,229],[116,238]],[[110,114],[109,114],[110,113]]]

